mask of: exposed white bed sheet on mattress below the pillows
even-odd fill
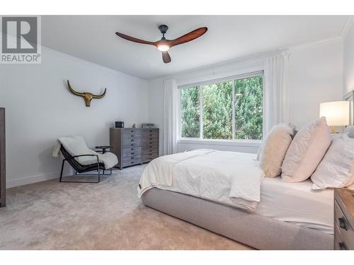
[[[265,178],[256,213],[333,234],[333,189],[312,190],[312,181]]]

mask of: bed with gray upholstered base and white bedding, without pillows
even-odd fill
[[[138,188],[146,206],[256,249],[333,249],[331,189],[263,178],[253,154],[193,152],[147,166]]]

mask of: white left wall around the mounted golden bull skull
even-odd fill
[[[85,107],[66,80],[82,92],[105,98]],[[6,107],[8,187],[59,175],[52,158],[59,136],[82,135],[90,147],[109,144],[109,128],[148,122],[147,81],[66,54],[42,49],[42,64],[0,64],[0,106]]]

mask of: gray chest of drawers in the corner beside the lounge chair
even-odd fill
[[[110,128],[110,146],[122,169],[159,156],[159,129]]]

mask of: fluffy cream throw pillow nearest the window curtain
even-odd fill
[[[259,165],[265,177],[277,177],[282,172],[282,161],[292,141],[294,128],[288,124],[273,126],[262,144]]]

